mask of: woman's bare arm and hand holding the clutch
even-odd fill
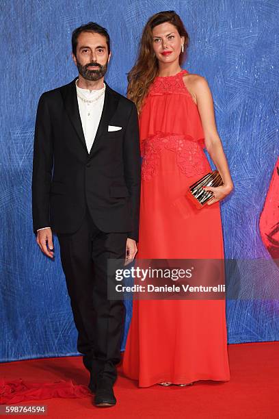
[[[208,205],[224,199],[233,190],[233,181],[230,177],[228,162],[224,154],[220,136],[217,133],[214,116],[214,105],[211,90],[204,77],[196,75],[193,79],[193,91],[196,96],[198,112],[204,130],[204,143],[211,159],[223,179],[224,185],[217,188],[205,188],[214,192],[214,199]]]

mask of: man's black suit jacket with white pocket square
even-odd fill
[[[108,131],[108,125],[122,127]],[[34,233],[79,229],[86,204],[101,231],[127,232],[138,240],[140,152],[133,102],[106,84],[103,113],[90,151],[79,116],[75,80],[38,103],[34,140]]]

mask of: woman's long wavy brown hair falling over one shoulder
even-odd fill
[[[148,93],[149,86],[157,76],[159,69],[158,60],[152,47],[152,29],[165,22],[172,23],[172,25],[176,27],[178,34],[181,37],[184,36],[184,53],[181,51],[179,64],[182,64],[185,59],[187,47],[189,45],[189,36],[183,25],[183,21],[181,21],[178,14],[170,10],[168,12],[159,12],[151,16],[142,32],[137,61],[128,73],[127,97],[135,103],[138,112],[142,110],[142,105]]]

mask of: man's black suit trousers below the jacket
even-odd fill
[[[87,210],[81,227],[58,234],[62,268],[75,325],[77,349],[91,364],[91,381],[116,380],[124,330],[123,301],[107,299],[107,259],[124,259],[127,233],[105,233]]]

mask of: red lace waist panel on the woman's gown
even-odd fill
[[[155,176],[162,149],[175,153],[178,169],[187,177],[203,175],[208,169],[207,157],[193,137],[183,134],[157,133],[142,141],[143,180],[148,181]]]

